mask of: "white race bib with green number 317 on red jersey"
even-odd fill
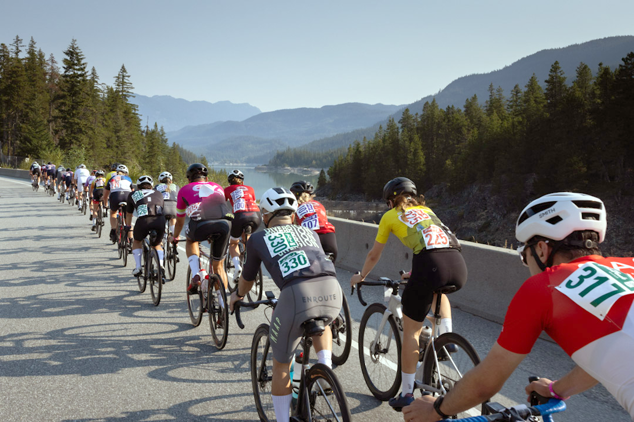
[[[603,321],[619,298],[634,293],[634,278],[605,265],[586,262],[555,288]]]

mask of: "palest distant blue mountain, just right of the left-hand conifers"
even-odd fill
[[[134,94],[131,102],[139,106],[141,122],[152,127],[155,122],[165,132],[176,131],[185,126],[224,122],[226,120],[245,120],[261,113],[260,109],[248,103],[234,104],[231,101],[187,101],[167,95],[146,97]]]

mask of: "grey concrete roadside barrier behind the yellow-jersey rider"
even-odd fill
[[[337,267],[360,271],[368,250],[377,236],[378,226],[366,222],[328,217],[337,233]],[[451,305],[470,314],[502,323],[508,304],[522,283],[530,276],[515,250],[481,245],[461,240],[462,255],[467,263],[467,284],[450,296]],[[396,236],[390,236],[380,261],[369,276],[396,278],[398,271],[411,269],[410,248]]]

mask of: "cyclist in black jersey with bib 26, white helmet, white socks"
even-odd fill
[[[136,267],[132,271],[133,276],[139,276],[143,272],[141,255],[143,255],[143,239],[150,231],[157,232],[157,238],[152,245],[159,254],[159,264],[163,271],[164,252],[161,241],[165,234],[165,215],[163,215],[163,194],[155,189],[154,181],[150,176],[139,176],[136,181],[138,190],[129,193],[126,207],[126,226],[132,224],[132,215],[136,210],[136,224],[134,224],[134,240],[132,241],[132,253]],[[127,228],[126,227],[126,228]],[[163,274],[161,274],[162,276]]]

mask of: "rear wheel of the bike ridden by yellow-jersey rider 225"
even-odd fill
[[[448,353],[446,346],[455,345],[458,347],[457,352]],[[456,333],[444,333],[438,336],[434,341],[434,347],[438,354],[438,366],[432,350],[427,350],[423,361],[423,383],[431,387],[450,391],[462,376],[470,369],[480,363],[475,348],[463,336]],[[437,394],[434,394],[437,396]],[[488,401],[488,400],[486,400]],[[458,413],[458,418],[469,418],[477,416],[484,410],[482,404],[472,407],[471,409]]]

